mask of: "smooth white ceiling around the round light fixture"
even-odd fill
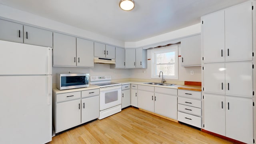
[[[0,0],[0,4],[125,42],[136,42],[200,22],[200,16],[247,0]]]

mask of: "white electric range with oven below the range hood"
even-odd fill
[[[111,82],[111,76],[90,76],[90,84],[100,86],[99,120],[121,112],[121,84]]]

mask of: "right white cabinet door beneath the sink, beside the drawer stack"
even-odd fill
[[[177,96],[155,93],[155,113],[177,120]]]

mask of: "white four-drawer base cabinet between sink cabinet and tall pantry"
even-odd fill
[[[202,127],[201,92],[178,90],[178,121]]]

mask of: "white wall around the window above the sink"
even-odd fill
[[[180,55],[181,46],[179,44],[178,55]],[[148,58],[151,59],[151,51],[152,49],[148,49]],[[181,66],[181,57],[178,58],[179,62],[179,79],[172,81],[193,81],[193,82],[201,82],[201,66],[196,67],[182,67]],[[190,70],[194,70],[194,75],[190,75]],[[145,71],[145,73],[143,73]],[[146,69],[131,69],[130,70],[130,78],[139,78],[139,79],[152,79],[157,80],[155,78],[151,78],[151,60],[148,60],[148,66]],[[161,77],[162,78],[162,77]],[[159,82],[161,82],[161,78],[159,78]]]

